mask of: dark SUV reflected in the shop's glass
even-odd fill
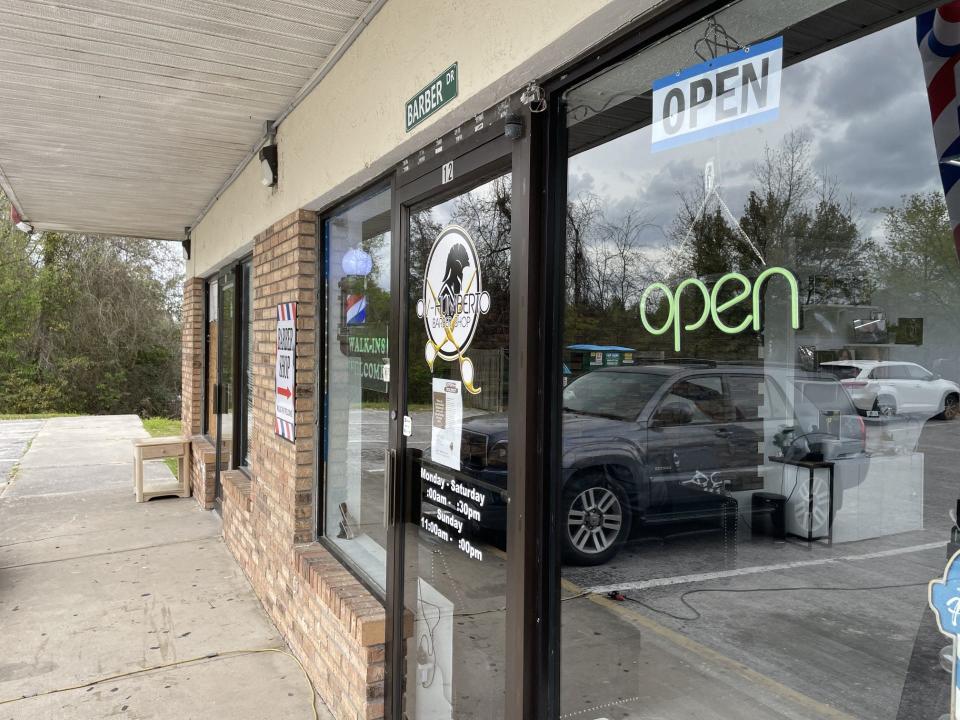
[[[572,564],[606,562],[641,524],[721,517],[736,493],[748,500],[764,489],[769,455],[850,457],[866,442],[836,378],[770,364],[604,368],[570,383],[563,411],[562,535]],[[466,421],[463,471],[505,487],[506,442],[505,416]]]

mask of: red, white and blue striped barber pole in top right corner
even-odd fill
[[[917,44],[927,81],[940,180],[947,199],[954,247],[960,256],[960,103],[957,98],[960,1],[918,15]]]

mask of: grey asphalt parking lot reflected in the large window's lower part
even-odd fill
[[[868,440],[884,430],[869,427]],[[946,560],[960,424],[916,430],[921,529],[832,546],[752,540],[741,529],[733,548],[713,529],[661,528],[606,565],[565,567],[566,716],[920,720],[948,712],[950,676],[937,660],[947,640],[927,610],[926,584]],[[660,681],[664,666],[674,670],[669,683]]]

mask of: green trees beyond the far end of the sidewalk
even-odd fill
[[[178,415],[182,261],[170,246],[25,235],[0,206],[0,412]]]

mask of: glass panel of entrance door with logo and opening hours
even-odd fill
[[[475,151],[476,152],[476,151]],[[511,174],[404,207],[395,717],[504,717]],[[505,172],[506,171],[506,172]]]

